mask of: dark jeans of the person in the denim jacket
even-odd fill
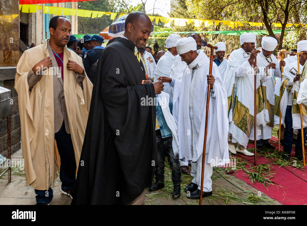
[[[164,183],[164,162],[165,153],[167,153],[169,165],[172,169],[172,180],[174,185],[180,185],[181,183],[181,167],[179,163],[179,155],[174,155],[172,136],[162,138],[160,129],[156,130],[157,136],[157,149],[158,149],[158,162],[155,171],[156,181]]]

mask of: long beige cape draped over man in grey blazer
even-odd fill
[[[38,190],[48,190],[53,186],[59,169],[54,154],[53,70],[46,69],[31,92],[27,79],[33,66],[49,56],[47,42],[48,39],[22,54],[15,76],[26,182],[27,186],[31,184]],[[68,60],[76,61],[82,67],[83,64],[81,57],[64,47],[64,97],[78,167],[93,85],[86,76],[82,90],[72,71],[67,70]]]

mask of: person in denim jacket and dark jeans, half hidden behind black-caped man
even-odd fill
[[[172,113],[173,102],[169,99],[169,110]],[[180,183],[181,183],[181,167],[179,163],[179,154],[174,153],[172,146],[172,131],[169,129],[165,117],[163,116],[161,106],[156,99],[156,137],[158,162],[155,171],[156,182],[149,188],[150,191],[157,191],[164,188],[164,162],[165,154],[169,160],[170,168],[172,169],[172,180],[174,185],[173,198],[180,197]]]

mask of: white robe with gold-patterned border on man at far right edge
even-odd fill
[[[286,115],[286,109],[287,109],[287,104],[288,104],[288,89],[290,89],[290,86],[292,88],[290,89],[290,92],[293,93],[293,101],[292,101],[292,126],[293,129],[301,129],[301,114],[300,114],[300,109],[299,105],[297,105],[296,100],[297,100],[297,93],[299,91],[299,81],[293,81],[293,78],[295,77],[294,74],[290,73],[290,70],[294,68],[298,71],[297,69],[297,62],[292,62],[291,64],[288,64],[284,67],[284,71],[282,73],[282,97],[280,100],[280,110],[282,112],[282,118],[285,118]],[[303,65],[300,64],[300,73],[302,73],[303,70]],[[288,80],[286,83],[286,89],[285,86],[283,86],[283,83],[285,80]],[[304,112],[306,112],[305,108],[302,107],[303,110],[303,128],[307,127],[307,116],[304,115]],[[285,122],[283,122],[284,127],[286,128]]]

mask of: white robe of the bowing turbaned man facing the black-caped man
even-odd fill
[[[175,79],[173,92],[173,113],[178,124],[179,159],[196,162],[203,153],[206,103],[207,74],[210,61],[203,51],[185,67],[182,81]],[[192,68],[194,70],[192,80]],[[208,114],[208,132],[206,159],[211,165],[229,163],[227,145],[228,120],[226,90],[220,77],[217,65],[213,64],[212,75],[215,77],[214,96],[210,96]],[[192,121],[191,121],[192,117]]]

